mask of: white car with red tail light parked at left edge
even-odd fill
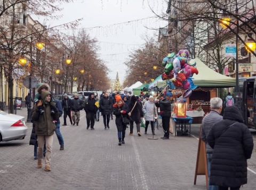
[[[0,142],[24,139],[27,131],[25,117],[0,111]]]

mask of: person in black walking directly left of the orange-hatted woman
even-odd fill
[[[100,108],[106,130],[109,128],[110,114],[113,108],[113,101],[109,98],[108,92],[103,92],[103,97],[100,99]]]

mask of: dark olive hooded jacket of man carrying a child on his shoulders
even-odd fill
[[[32,119],[34,120],[36,126],[36,135],[53,135],[55,131],[55,121],[59,119],[59,110],[57,107],[53,106],[55,103],[46,101],[46,96],[51,94],[49,91],[43,91],[41,93],[43,105],[33,108]],[[51,115],[51,108],[54,114]],[[40,114],[39,109],[43,109],[44,113]]]

